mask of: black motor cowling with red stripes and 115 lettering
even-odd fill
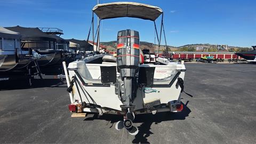
[[[121,77],[135,77],[140,64],[139,32],[121,30],[117,35],[117,70]]]

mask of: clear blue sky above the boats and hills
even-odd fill
[[[168,45],[256,45],[255,0],[126,1],[161,7]],[[118,1],[100,0],[100,3],[109,2]],[[0,0],[0,26],[54,27],[63,30],[63,38],[87,39],[92,8],[96,4],[97,0]],[[158,18],[158,32],[160,24]],[[139,31],[140,41],[155,41],[154,22],[149,20],[107,19],[101,21],[100,29],[101,42],[116,41],[117,32],[124,29]]]

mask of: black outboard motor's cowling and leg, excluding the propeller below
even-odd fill
[[[131,107],[133,101],[134,82],[137,81],[135,74],[139,71],[140,50],[139,32],[135,30],[121,30],[117,36],[117,70],[121,74],[121,81],[124,84],[124,95],[121,97],[124,108]]]

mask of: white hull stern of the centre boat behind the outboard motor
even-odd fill
[[[98,55],[97,57],[100,58],[102,55]],[[98,111],[100,113],[113,114],[122,113],[120,106],[123,105],[123,103],[121,100],[119,100],[118,95],[115,93],[115,84],[101,83],[100,67],[116,66],[116,63],[90,63],[90,61],[97,59],[97,57],[88,57],[81,61],[69,63],[69,78],[72,79],[74,76],[78,77],[78,81],[81,83],[82,89],[90,94],[90,97],[94,100],[94,102],[101,107],[100,110],[84,108],[84,111]],[[142,86],[138,88],[137,97],[133,101],[133,105],[135,106],[135,114],[151,113],[152,111],[155,111],[155,109],[151,108],[157,105],[161,105],[161,107],[158,108],[158,111],[172,111],[170,109],[170,103],[180,101],[181,87],[177,87],[176,84],[178,82],[178,77],[184,79],[186,68],[183,64],[170,61],[165,62],[166,65],[140,65],[140,67],[155,67],[154,84],[150,87]],[[76,73],[74,69],[77,70]],[[118,77],[119,73],[116,73]],[[77,74],[81,75],[81,78],[79,78]],[[83,93],[81,87],[74,84],[73,91],[70,93],[70,97],[73,99],[71,103],[81,103],[83,101],[85,103],[93,103],[89,95]],[[173,111],[175,111],[175,109]]]

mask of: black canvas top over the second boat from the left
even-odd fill
[[[6,29],[17,31],[21,34],[22,40],[45,40],[45,41],[56,41],[56,38],[53,38],[50,35],[45,34],[39,28],[25,28],[25,27],[5,27]]]

